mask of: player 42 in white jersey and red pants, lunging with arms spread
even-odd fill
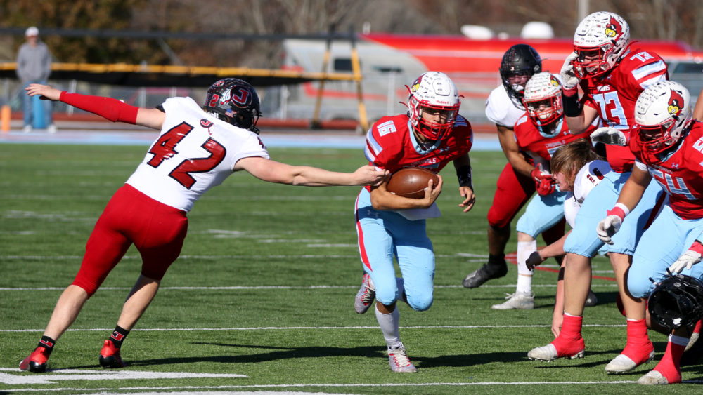
[[[181,253],[188,228],[186,213],[228,175],[245,170],[264,181],[308,186],[377,185],[388,175],[373,166],[361,166],[354,173],[335,173],[271,161],[256,127],[261,111],[259,96],[240,79],[215,82],[202,106],[191,98],[169,98],[156,109],[146,109],[39,84],[30,85],[27,94],[60,100],[113,122],[160,130],[142,163],[98,219],[79,272],[59,297],[39,346],[20,362],[20,368],[30,372],[46,370],[56,340],[134,243],[143,261],[141,274],[99,357],[104,368],[123,367],[120,347],[124,338]]]

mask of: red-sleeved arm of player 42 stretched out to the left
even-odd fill
[[[112,122],[124,122],[160,130],[166,115],[158,109],[139,108],[117,99],[59,91],[48,85],[32,83],[25,88],[27,95],[39,95],[43,100],[60,100],[67,105],[92,112]]]

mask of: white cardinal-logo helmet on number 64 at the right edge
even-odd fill
[[[676,144],[693,119],[690,94],[681,83],[659,81],[648,86],[635,103],[635,122],[631,135],[651,154]]]

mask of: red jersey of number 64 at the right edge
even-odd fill
[[[632,139],[630,147],[638,161],[647,165],[652,178],[669,194],[673,212],[685,220],[697,220],[703,218],[703,123],[695,122],[682,139],[675,152],[666,154],[657,163],[650,163],[652,158],[643,154],[639,140]]]

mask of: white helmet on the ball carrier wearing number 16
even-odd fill
[[[431,141],[444,138],[459,113],[459,94],[453,81],[441,72],[426,72],[408,87],[408,116],[413,129]],[[441,123],[423,119],[423,112],[439,113]]]

